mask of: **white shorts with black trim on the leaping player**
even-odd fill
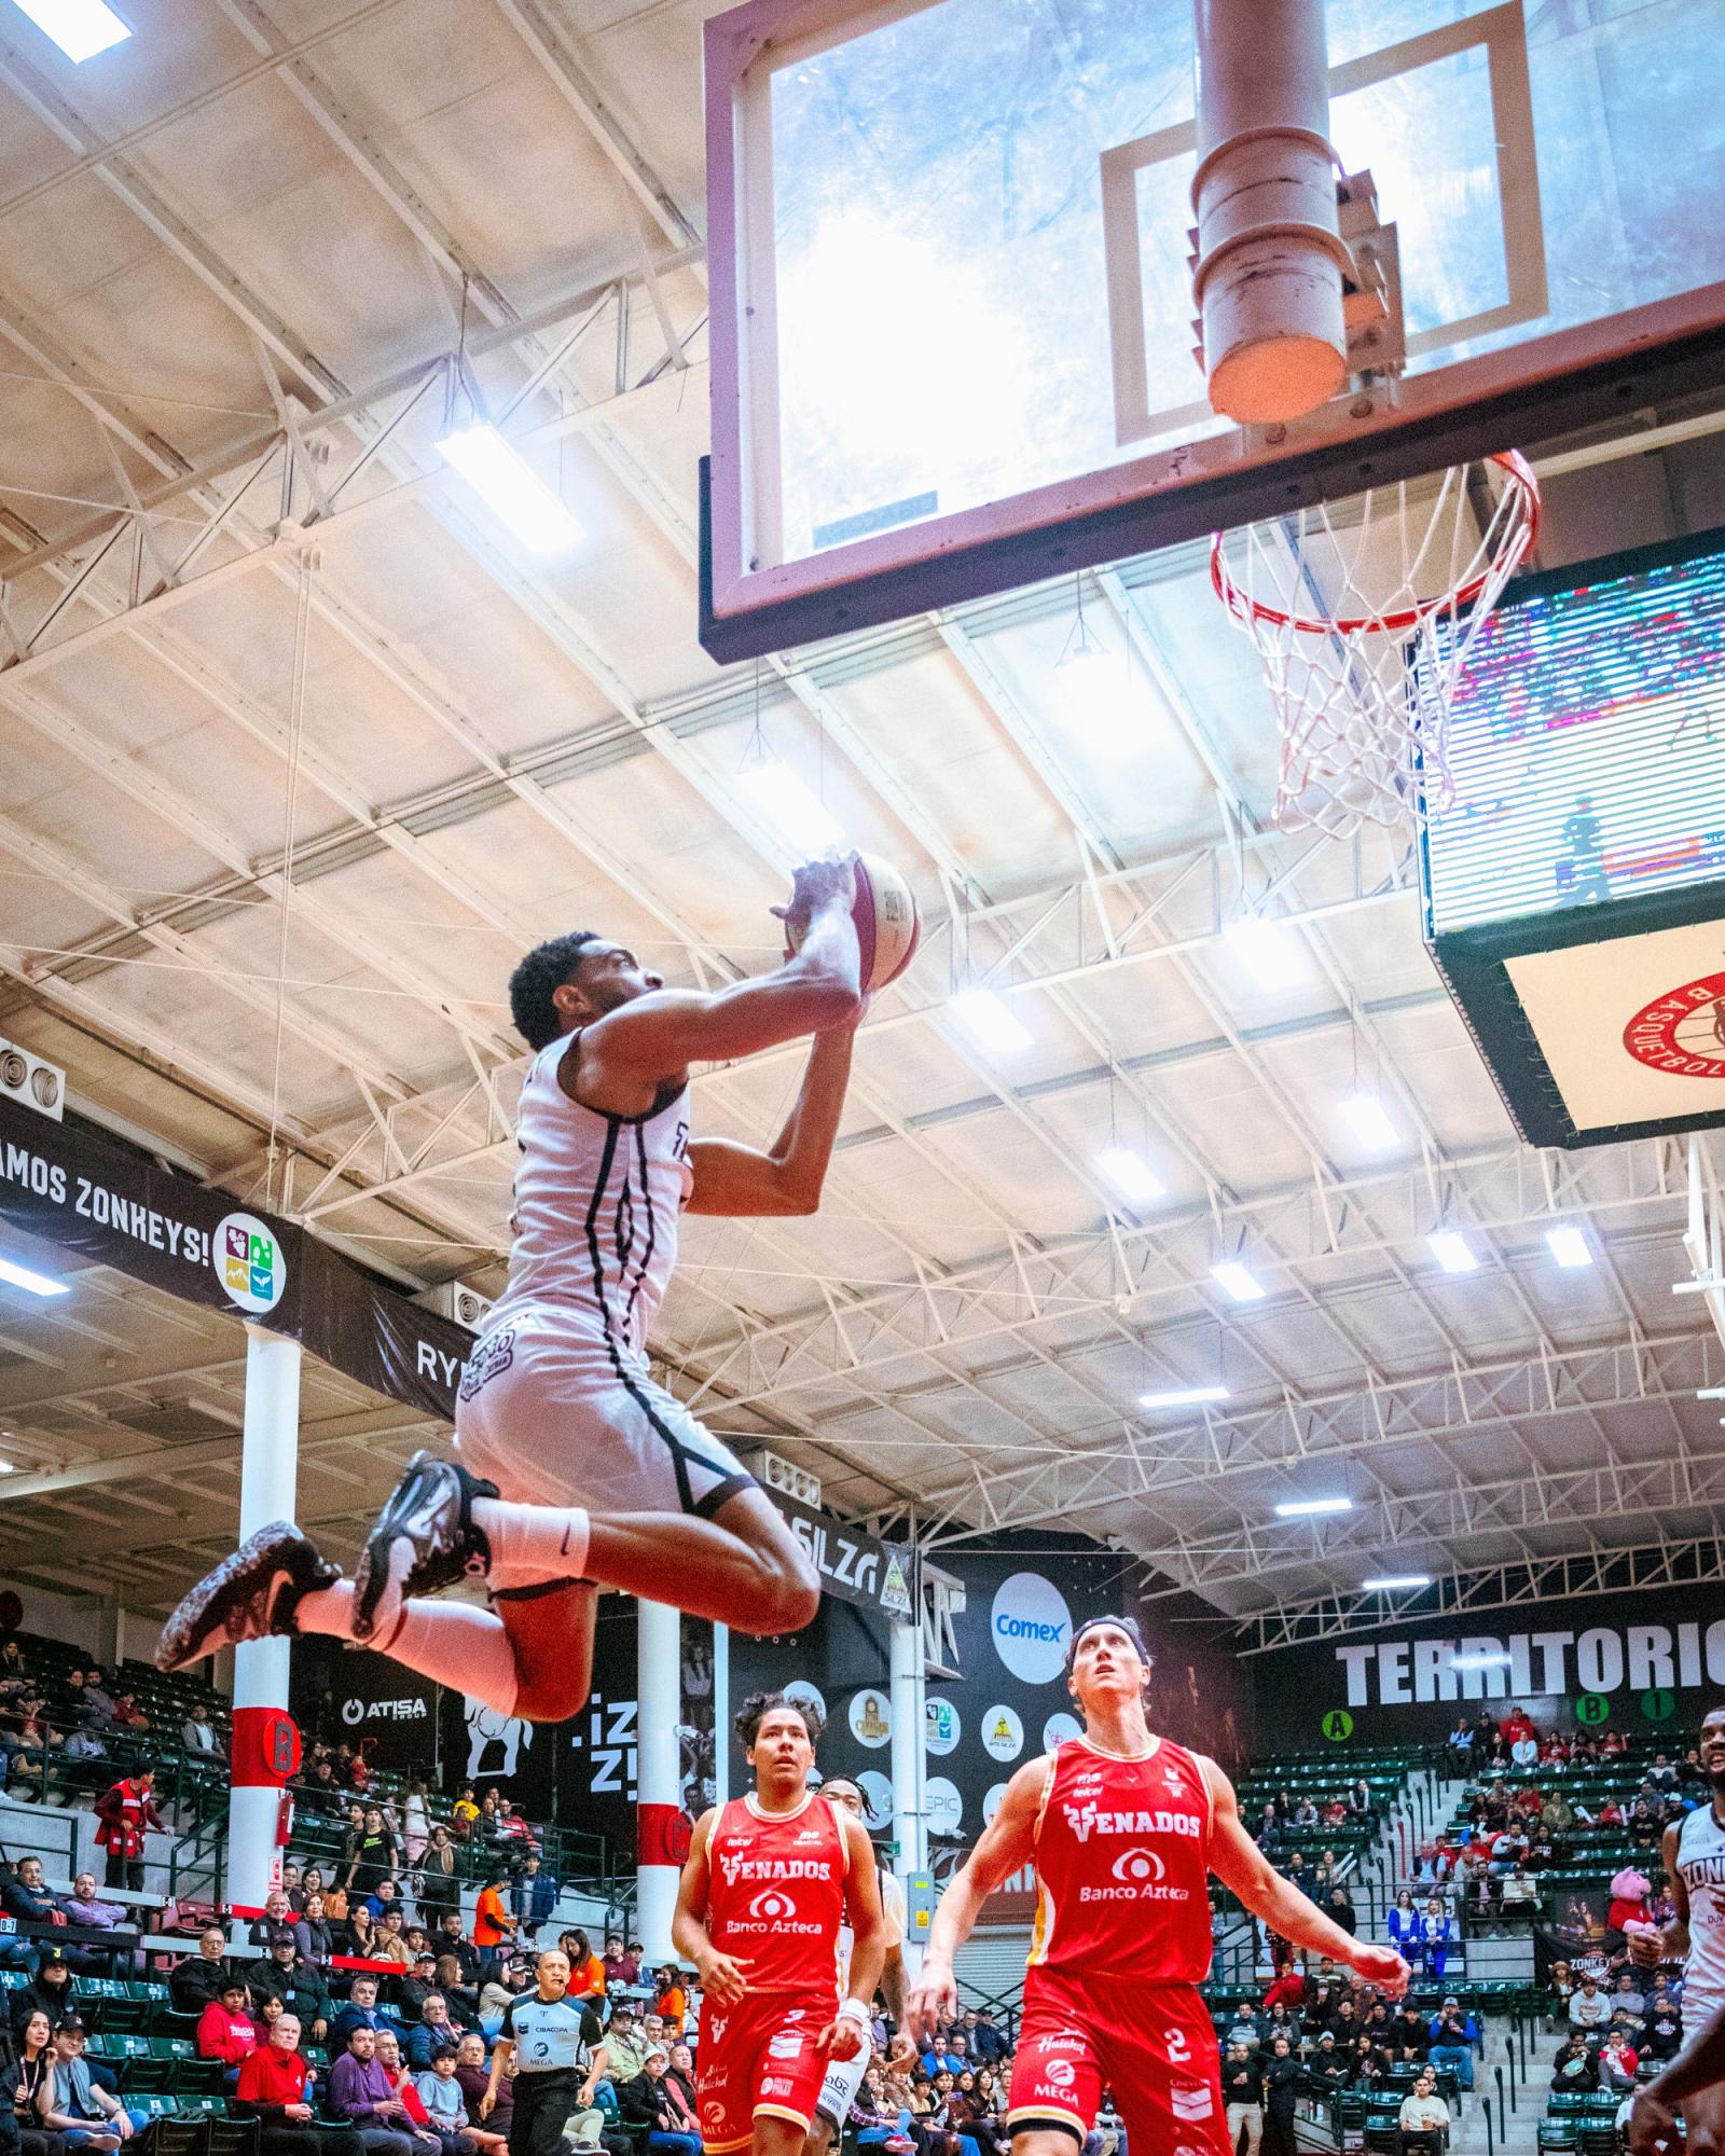
[[[712,1518],[748,1475],[712,1429],[582,1311],[528,1302],[474,1341],[455,1401],[472,1475],[526,1505]]]

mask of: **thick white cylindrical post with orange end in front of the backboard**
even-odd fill
[[[1216,412],[1274,423],[1343,384],[1324,0],[1195,0],[1192,179],[1203,371]]]

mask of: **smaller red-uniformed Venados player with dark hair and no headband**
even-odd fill
[[[828,2063],[869,2055],[869,2001],[886,1953],[875,1852],[860,1820],[809,1789],[813,1710],[757,1692],[737,1736],[755,1789],[696,1822],[671,1925],[707,2001],[701,2143],[707,2156],[800,2156]]]

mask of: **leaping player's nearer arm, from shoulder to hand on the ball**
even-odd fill
[[[850,860],[806,862],[785,910],[802,931],[796,957],[714,994],[656,987],[595,1018],[580,1037],[582,1097],[651,1091],[690,1063],[729,1063],[854,1022],[862,1007],[854,903]]]

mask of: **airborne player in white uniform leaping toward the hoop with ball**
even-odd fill
[[[457,1460],[416,1453],[343,1580],[289,1522],[261,1529],[168,1619],[181,1669],[272,1632],[323,1632],[507,1716],[567,1720],[589,1690],[595,1583],[744,1632],[794,1632],[819,1580],[765,1492],[647,1369],[677,1216],[809,1214],[862,1011],[850,860],[796,871],[776,972],[673,990],[591,934],[539,944],[509,1000],[522,1084],[509,1287],[468,1356]],[[813,1035],[772,1151],[690,1136],[690,1063]],[[485,1578],[496,1611],[433,1595]]]

